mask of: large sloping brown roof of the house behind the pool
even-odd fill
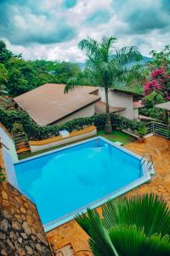
[[[65,84],[43,84],[14,98],[38,125],[49,125],[77,110],[98,102],[93,86],[77,86],[64,94]]]

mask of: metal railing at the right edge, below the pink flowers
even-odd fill
[[[152,121],[145,126],[147,128],[147,134],[153,133],[161,137],[170,138],[170,125]]]

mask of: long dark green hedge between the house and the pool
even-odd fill
[[[8,131],[11,131],[14,123],[23,125],[26,135],[31,140],[41,140],[48,137],[59,135],[59,131],[81,129],[83,125],[95,125],[98,129],[105,127],[105,113],[96,114],[92,117],[73,119],[63,125],[37,125],[29,115],[24,111],[19,110],[3,110],[0,109],[0,123],[2,123]],[[139,121],[127,119],[120,115],[111,113],[111,123],[114,128],[119,130],[130,128],[133,131],[138,131],[140,126],[143,126]]]

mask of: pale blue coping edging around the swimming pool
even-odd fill
[[[104,141],[105,143],[111,144],[111,146],[113,146],[113,147],[123,151],[124,153],[129,154],[129,155],[131,155],[131,156],[133,156],[133,157],[135,157],[135,158],[137,158],[139,160],[142,159],[141,156],[139,156],[138,154],[134,154],[132,151],[128,150],[127,148],[122,148],[122,146],[116,145],[116,143],[111,142],[110,140],[106,139],[105,137],[98,136],[98,137],[93,137],[93,138],[84,140],[84,141],[79,142],[79,143],[73,143],[71,145],[67,145],[67,146],[64,146],[62,148],[57,148],[57,149],[48,151],[48,152],[43,153],[43,154],[31,156],[31,157],[29,157],[29,158],[27,158],[25,160],[20,160],[18,163],[14,164],[14,166],[20,165],[20,164],[22,164],[22,163],[24,163],[26,161],[30,161],[30,160],[34,160],[34,159],[43,157],[43,156],[48,155],[48,154],[54,154],[56,152],[60,152],[60,151],[63,151],[65,149],[68,149],[68,148],[73,148],[73,147],[76,147],[76,146],[81,145],[83,143],[88,143],[88,142],[91,142],[91,141],[95,141],[97,139],[100,139],[100,140]],[[61,218],[56,218],[53,221],[48,222],[48,224],[43,224],[44,231],[48,232],[50,230],[54,230],[59,225],[65,224],[65,223],[71,221],[71,219],[74,219],[77,214],[81,214],[82,212],[83,213],[87,212],[87,208],[88,207],[90,207],[91,209],[99,207],[99,206],[105,204],[105,202],[107,202],[107,201],[109,201],[111,199],[114,199],[114,198],[116,198],[116,197],[118,197],[120,195],[124,195],[125,193],[127,193],[128,191],[130,191],[132,189],[135,189],[139,185],[150,181],[150,173],[148,172],[149,166],[146,163],[144,163],[141,167],[142,167],[141,168],[141,170],[142,170],[142,177],[139,177],[138,179],[136,179],[132,183],[128,183],[126,186],[122,187],[121,189],[117,189],[116,191],[110,193],[109,195],[105,195],[102,198],[99,198],[98,200],[93,201],[93,202],[89,203],[86,206],[78,208],[77,210],[75,210],[73,212],[70,212],[70,213],[64,215]],[[152,174],[154,174],[154,170],[152,170]]]

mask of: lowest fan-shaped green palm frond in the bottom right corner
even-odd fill
[[[167,236],[154,235],[148,238],[144,229],[139,229],[135,225],[118,225],[110,230],[109,235],[117,253],[122,256],[167,256],[170,253]]]

